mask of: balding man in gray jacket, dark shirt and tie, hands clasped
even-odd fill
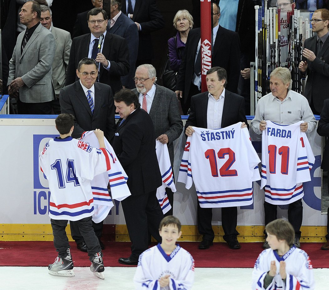
[[[55,39],[40,24],[38,2],[26,2],[19,16],[26,30],[18,35],[9,63],[8,92],[16,97],[19,93],[19,114],[51,114],[51,101],[55,99],[51,82]]]

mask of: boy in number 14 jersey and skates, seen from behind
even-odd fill
[[[58,257],[48,266],[53,276],[74,277],[73,261],[65,227],[76,221],[88,247],[90,270],[104,279],[104,264],[98,238],[92,228],[94,213],[90,181],[95,175],[110,170],[104,133],[96,129],[100,149],[73,139],[73,116],[60,114],[55,120],[60,136],[49,140],[39,156],[41,171],[49,181],[51,191],[49,217]]]

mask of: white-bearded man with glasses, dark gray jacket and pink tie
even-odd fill
[[[178,109],[176,94],[162,86],[155,84],[157,72],[154,66],[145,64],[138,66],[135,73],[136,89],[133,90],[139,95],[139,102],[142,109],[149,113],[155,136],[162,144],[167,144],[171,168],[174,164],[173,141],[179,138],[183,131],[183,122]],[[174,194],[169,188],[166,193],[171,205],[165,215],[172,215]]]

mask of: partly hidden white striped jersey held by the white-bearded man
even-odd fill
[[[162,176],[162,185],[157,189],[157,198],[160,203],[162,212],[165,214],[171,209],[165,188],[169,187],[172,192],[176,192],[174,183],[174,175],[172,172],[170,157],[167,144],[162,144],[159,140],[155,142],[155,150],[159,162],[160,172]]]

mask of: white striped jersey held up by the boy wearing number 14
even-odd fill
[[[93,147],[99,147],[99,142],[94,131],[84,132],[80,140]],[[112,198],[120,201],[131,195],[127,185],[128,177],[126,172],[116,158],[114,149],[106,138],[104,138],[104,143],[110,156],[109,162],[111,169],[95,176],[91,181],[91,189],[94,198],[94,214],[92,215],[92,220],[95,223],[100,223],[108,216],[114,205]],[[107,188],[109,182],[112,198]]]

